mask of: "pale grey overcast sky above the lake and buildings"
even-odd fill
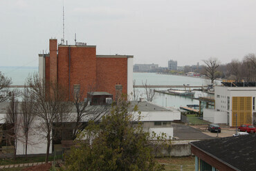
[[[0,0],[0,66],[38,66],[48,39],[62,38],[63,0]],[[134,63],[221,63],[256,53],[256,1],[64,1],[65,40],[97,54],[131,54]]]

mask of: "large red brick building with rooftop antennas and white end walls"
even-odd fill
[[[116,84],[122,85],[122,93],[132,92],[133,56],[96,55],[96,46],[76,44],[57,45],[57,39],[50,39],[50,53],[39,54],[39,77],[65,86],[69,98],[77,86],[84,98],[91,91],[115,97]]]

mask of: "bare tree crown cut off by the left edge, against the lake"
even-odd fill
[[[9,86],[12,83],[12,79],[5,77],[0,72],[0,103],[7,101],[9,98]]]

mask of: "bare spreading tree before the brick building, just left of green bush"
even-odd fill
[[[84,119],[86,121],[99,121],[101,117],[110,110],[110,106],[106,103],[99,105],[90,105],[91,97],[95,91],[95,86],[89,86],[89,93],[87,93],[86,100],[84,97],[84,90],[80,88],[73,88],[73,105],[75,106],[75,127],[73,129],[73,139],[77,134],[84,129]]]

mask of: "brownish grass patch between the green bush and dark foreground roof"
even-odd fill
[[[194,170],[194,157],[165,157],[156,161],[165,163],[166,171],[181,170],[181,165],[183,171]]]

